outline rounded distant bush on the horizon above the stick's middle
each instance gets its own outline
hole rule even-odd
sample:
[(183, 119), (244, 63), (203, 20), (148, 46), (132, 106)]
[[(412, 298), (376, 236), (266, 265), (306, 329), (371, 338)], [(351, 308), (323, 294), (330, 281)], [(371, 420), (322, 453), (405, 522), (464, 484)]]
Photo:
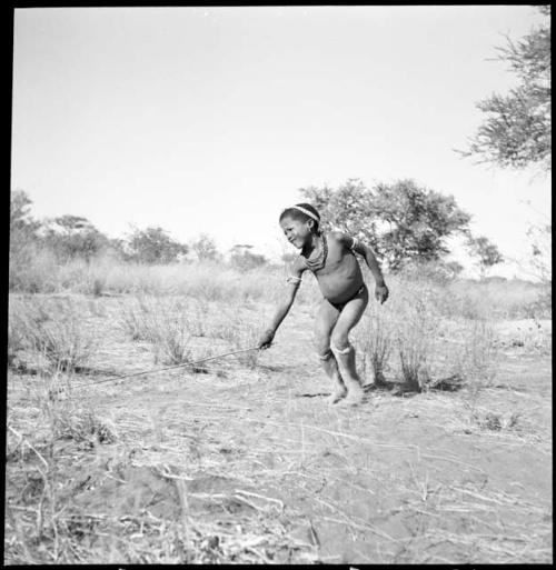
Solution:
[(131, 259), (142, 263), (172, 263), (188, 252), (185, 243), (172, 240), (162, 228), (135, 229), (128, 238)]

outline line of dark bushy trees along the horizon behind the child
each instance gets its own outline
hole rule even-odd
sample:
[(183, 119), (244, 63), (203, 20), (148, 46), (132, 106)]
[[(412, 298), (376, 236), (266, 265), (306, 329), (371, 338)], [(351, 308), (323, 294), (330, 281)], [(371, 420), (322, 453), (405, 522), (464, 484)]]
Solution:
[[(465, 237), (481, 276), (503, 261), (497, 247), (486, 237), (471, 236), (470, 216), (451, 196), (420, 188), (413, 180), (367, 188), (360, 180), (351, 179), (336, 189), (308, 187), (300, 189), (300, 193), (321, 212), (325, 228), (339, 229), (369, 243), (389, 271), (399, 271), (410, 263), (435, 262), (446, 276), (456, 277), (463, 267), (446, 261), (450, 253), (447, 240), (456, 234)], [(149, 227), (132, 228), (125, 239), (110, 239), (82, 217), (66, 214), (36, 220), (30, 213), (31, 204), (24, 191), (12, 192), (10, 257), (19, 262), (26, 262), (26, 256), (32, 256), (32, 248), (37, 247), (48, 248), (60, 262), (90, 261), (101, 253), (146, 264), (182, 260), (224, 262), (224, 254), (206, 233), (181, 243), (162, 228)], [(286, 256), (284, 261), (289, 262), (290, 258)], [(254, 253), (252, 246), (238, 243), (230, 249), (227, 263), (245, 271), (269, 261)]]

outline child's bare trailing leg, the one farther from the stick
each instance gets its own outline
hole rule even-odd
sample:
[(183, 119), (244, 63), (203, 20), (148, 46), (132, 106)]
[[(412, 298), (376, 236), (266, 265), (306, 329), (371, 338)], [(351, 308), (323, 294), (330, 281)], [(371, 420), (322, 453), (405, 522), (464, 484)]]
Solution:
[(364, 396), (361, 380), (356, 370), (355, 349), (349, 343), (349, 331), (359, 322), (368, 301), (369, 293), (365, 287), (363, 291), (346, 303), (331, 336), (331, 348), (348, 390), (347, 403), (359, 403)]

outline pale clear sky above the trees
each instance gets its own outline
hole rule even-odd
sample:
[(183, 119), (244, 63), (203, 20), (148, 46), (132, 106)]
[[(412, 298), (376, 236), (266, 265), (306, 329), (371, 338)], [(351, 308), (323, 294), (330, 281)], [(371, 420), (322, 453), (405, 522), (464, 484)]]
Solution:
[(548, 176), (455, 152), (484, 120), (476, 102), (515, 84), (496, 47), (544, 21), (530, 6), (14, 13), (11, 188), (37, 218), (271, 258), (291, 250), (278, 217), (299, 188), (410, 178), (524, 259), (549, 216)]

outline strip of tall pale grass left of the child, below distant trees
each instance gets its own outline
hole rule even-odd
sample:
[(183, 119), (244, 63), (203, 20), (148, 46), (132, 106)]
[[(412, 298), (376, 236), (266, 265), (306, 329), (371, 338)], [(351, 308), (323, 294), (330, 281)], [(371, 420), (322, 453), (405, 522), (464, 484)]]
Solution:
[[(26, 292), (73, 291), (100, 296), (110, 293), (182, 296), (207, 302), (246, 304), (276, 302), (281, 294), (288, 268), (265, 266), (240, 271), (211, 260), (147, 266), (122, 261), (109, 253), (68, 261), (57, 260), (48, 249), (28, 252), (11, 260), (10, 289)], [(298, 302), (312, 298), (316, 284), (305, 280)]]

